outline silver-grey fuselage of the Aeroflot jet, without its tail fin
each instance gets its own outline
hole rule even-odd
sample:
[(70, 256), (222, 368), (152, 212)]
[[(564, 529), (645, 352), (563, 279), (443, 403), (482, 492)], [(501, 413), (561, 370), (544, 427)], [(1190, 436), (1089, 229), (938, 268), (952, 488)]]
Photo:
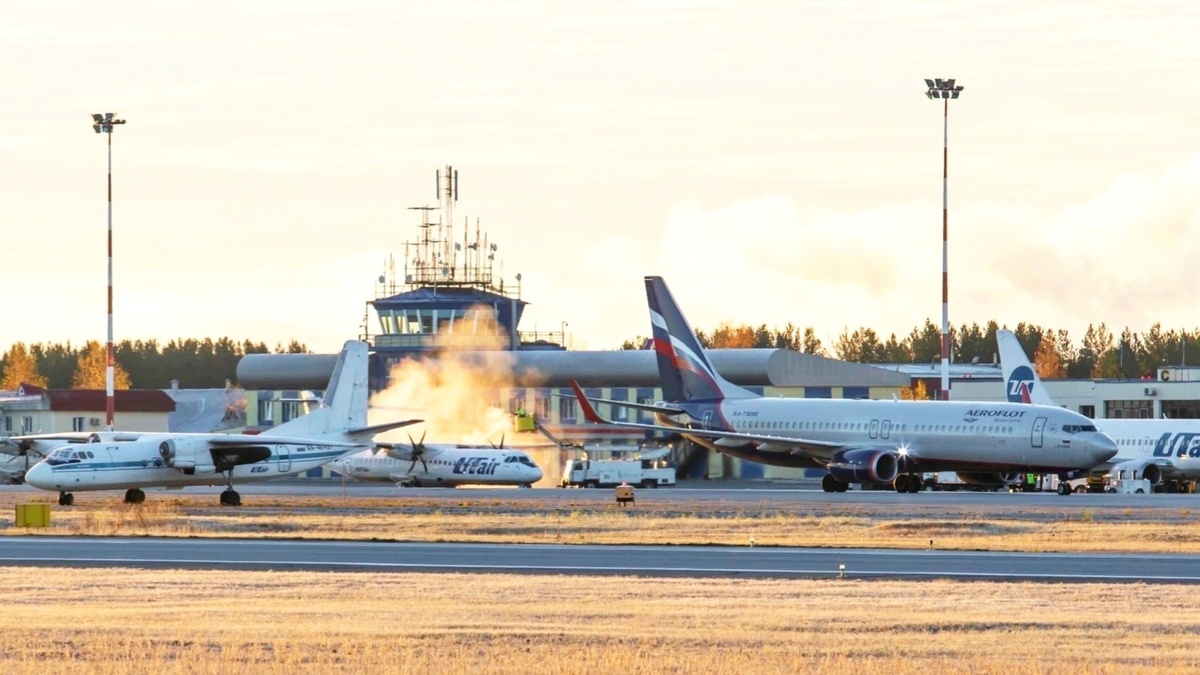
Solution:
[[(1027, 404), (755, 398), (726, 399), (720, 412), (736, 431), (893, 449), (930, 470), (1087, 470), (1116, 452), (1091, 419)], [(713, 422), (712, 428), (721, 428)], [(698, 423), (704, 426), (706, 420)], [(715, 446), (737, 443), (730, 438)], [(776, 448), (766, 443), (760, 449)]]

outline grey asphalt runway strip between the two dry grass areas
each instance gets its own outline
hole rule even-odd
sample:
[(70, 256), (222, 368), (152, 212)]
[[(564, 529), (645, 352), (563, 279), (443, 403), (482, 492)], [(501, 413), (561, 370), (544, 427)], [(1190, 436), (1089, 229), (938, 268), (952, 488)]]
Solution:
[[(1200, 555), (0, 537), (0, 565), (1200, 584)], [(842, 566), (845, 566), (842, 568)]]

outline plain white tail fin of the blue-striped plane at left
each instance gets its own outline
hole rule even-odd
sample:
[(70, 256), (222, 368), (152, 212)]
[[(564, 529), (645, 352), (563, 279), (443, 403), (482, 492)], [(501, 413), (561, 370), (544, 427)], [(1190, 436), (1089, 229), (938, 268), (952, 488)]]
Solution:
[(367, 429), (367, 344), (349, 340), (342, 347), (324, 400), (308, 414), (272, 426), (270, 436), (348, 436)]

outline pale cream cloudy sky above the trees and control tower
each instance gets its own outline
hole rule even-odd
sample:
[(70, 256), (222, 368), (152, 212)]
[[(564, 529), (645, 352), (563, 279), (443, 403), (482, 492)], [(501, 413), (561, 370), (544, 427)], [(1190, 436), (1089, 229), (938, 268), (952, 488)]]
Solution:
[[(0, 23), (0, 264), (16, 341), (361, 334), (389, 253), (456, 219), (523, 330), (608, 350), (662, 275), (696, 328), (941, 317), (1200, 325), (1190, 2), (23, 2)], [(456, 234), (461, 235), (461, 223)], [(378, 331), (373, 315), (371, 330)]]

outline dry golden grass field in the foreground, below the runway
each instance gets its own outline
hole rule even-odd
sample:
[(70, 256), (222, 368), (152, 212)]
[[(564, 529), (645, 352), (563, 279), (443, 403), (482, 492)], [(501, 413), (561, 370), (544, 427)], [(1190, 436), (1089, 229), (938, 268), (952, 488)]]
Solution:
[(0, 568), (0, 673), (1195, 673), (1177, 586)]

